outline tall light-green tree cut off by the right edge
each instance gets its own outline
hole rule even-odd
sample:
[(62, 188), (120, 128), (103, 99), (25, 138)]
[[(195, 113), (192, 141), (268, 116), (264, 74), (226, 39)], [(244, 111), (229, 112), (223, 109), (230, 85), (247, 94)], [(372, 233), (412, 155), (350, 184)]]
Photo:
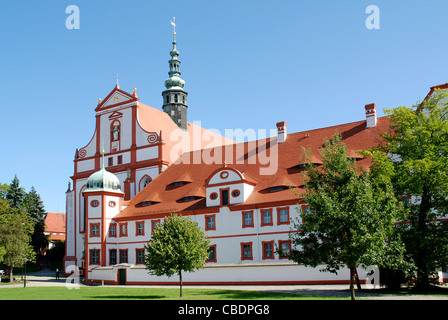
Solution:
[[(448, 225), (448, 94), (436, 90), (412, 108), (386, 109), (391, 133), (377, 152), (377, 166), (392, 165), (397, 196), (411, 200), (406, 223), (397, 232), (406, 245), (407, 261), (416, 268), (416, 289), (426, 290), (447, 261)], [(386, 156), (388, 155), (388, 156)]]

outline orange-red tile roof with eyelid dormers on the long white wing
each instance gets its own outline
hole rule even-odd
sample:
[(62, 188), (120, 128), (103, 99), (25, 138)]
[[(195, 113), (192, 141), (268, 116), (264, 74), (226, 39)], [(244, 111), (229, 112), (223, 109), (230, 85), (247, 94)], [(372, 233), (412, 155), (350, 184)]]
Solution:
[[(342, 135), (343, 142), (347, 145), (347, 156), (359, 159), (358, 165), (368, 168), (369, 159), (362, 159), (357, 152), (377, 146), (382, 142), (381, 134), (390, 131), (389, 120), (385, 117), (378, 118), (375, 127), (366, 128), (366, 121), (358, 121), (332, 127), (326, 127), (306, 132), (290, 133), (285, 142), (277, 144), (277, 138), (269, 141), (258, 140), (255, 143), (246, 142), (233, 144), (230, 147), (215, 147), (185, 153), (179, 161), (171, 165), (162, 174), (155, 178), (145, 189), (132, 198), (117, 220), (155, 218), (172, 212), (185, 214), (194, 211), (205, 210), (218, 211), (219, 207), (206, 207), (205, 183), (210, 175), (224, 165), (238, 170), (244, 179), (255, 183), (254, 190), (249, 198), (241, 204), (230, 205), (230, 210), (239, 208), (254, 208), (270, 206), (272, 203), (297, 203), (298, 196), (289, 188), (276, 192), (270, 192), (269, 187), (292, 186), (303, 192), (301, 177), (298, 174), (300, 164), (306, 163), (303, 149), (311, 149), (311, 159), (314, 163), (322, 163), (318, 149), (324, 145), (325, 139), (330, 139), (336, 132)], [(274, 174), (261, 174), (260, 169), (268, 169), (270, 164), (263, 164), (262, 156), (264, 148), (268, 154), (275, 152), (278, 147), (278, 167)], [(227, 148), (227, 152), (226, 152)], [(244, 152), (239, 150), (244, 148)], [(232, 151), (231, 156), (229, 152)], [(210, 163), (204, 156), (211, 155), (218, 163)], [(200, 159), (200, 163), (194, 163)], [(226, 160), (226, 162), (224, 162)], [(230, 160), (230, 161), (229, 161)], [(173, 182), (186, 181), (181, 186), (173, 186)], [(171, 185), (171, 186), (170, 186)], [(170, 187), (168, 187), (170, 186)], [(184, 197), (197, 196), (196, 200), (182, 201)], [(153, 201), (155, 204), (139, 207), (144, 201)]]

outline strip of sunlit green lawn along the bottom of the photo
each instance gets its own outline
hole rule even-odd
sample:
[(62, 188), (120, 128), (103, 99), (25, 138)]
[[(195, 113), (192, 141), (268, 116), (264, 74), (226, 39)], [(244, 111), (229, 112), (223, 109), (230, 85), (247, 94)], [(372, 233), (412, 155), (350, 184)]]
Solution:
[(66, 287), (1, 288), (0, 300), (291, 300), (334, 299), (290, 293), (178, 288)]

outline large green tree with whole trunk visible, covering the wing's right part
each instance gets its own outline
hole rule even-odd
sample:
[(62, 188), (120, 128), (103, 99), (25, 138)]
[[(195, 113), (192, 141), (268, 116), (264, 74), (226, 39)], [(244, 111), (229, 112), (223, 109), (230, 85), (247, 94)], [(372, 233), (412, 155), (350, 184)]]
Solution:
[(385, 172), (359, 170), (341, 139), (336, 134), (325, 141), (319, 150), (321, 167), (308, 160), (302, 199), (309, 210), (300, 213), (301, 221), (295, 224), (299, 232), (290, 234), (294, 244), (290, 259), (311, 267), (325, 264), (322, 271), (332, 273), (347, 267), (355, 299), (356, 267), (401, 261), (400, 242), (388, 243), (400, 211)]

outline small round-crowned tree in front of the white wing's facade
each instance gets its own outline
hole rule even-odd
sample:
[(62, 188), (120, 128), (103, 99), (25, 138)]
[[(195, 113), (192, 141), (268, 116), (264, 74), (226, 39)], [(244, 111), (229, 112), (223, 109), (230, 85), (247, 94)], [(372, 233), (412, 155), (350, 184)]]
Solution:
[(202, 269), (208, 258), (210, 241), (205, 232), (190, 218), (172, 214), (154, 231), (145, 245), (145, 265), (150, 274), (179, 275), (182, 297), (182, 271)]

